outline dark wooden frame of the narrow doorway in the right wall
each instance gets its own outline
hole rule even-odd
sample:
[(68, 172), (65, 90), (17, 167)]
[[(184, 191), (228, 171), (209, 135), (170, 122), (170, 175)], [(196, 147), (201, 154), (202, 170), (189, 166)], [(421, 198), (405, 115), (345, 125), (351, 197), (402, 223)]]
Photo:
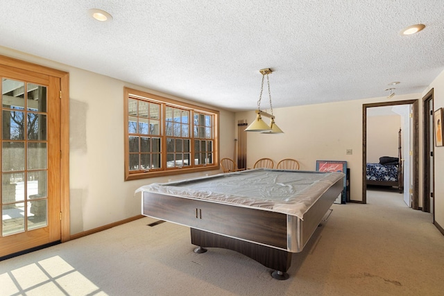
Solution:
[[(432, 109), (429, 107), (429, 102), (432, 101)], [(430, 201), (429, 196), (431, 192), (435, 192), (434, 188), (432, 188), (432, 191), (430, 191), (430, 155), (429, 151), (432, 150), (432, 153), (434, 155), (434, 145), (432, 144), (432, 147), (430, 147), (430, 125), (427, 121), (429, 119), (430, 113), (434, 112), (434, 89), (430, 89), (429, 92), (422, 98), (422, 116), (424, 117), (424, 126), (422, 133), (424, 134), (424, 137), (422, 137), (422, 147), (424, 147), (424, 153), (422, 158), (422, 211), (430, 212)], [(432, 127), (433, 130), (433, 127)], [(435, 159), (433, 160), (435, 162)], [(433, 170), (435, 171), (435, 166), (433, 166)], [(435, 184), (435, 182), (434, 182)], [(433, 203), (435, 203), (435, 199), (433, 199)], [(433, 204), (433, 209), (435, 209), (435, 205)], [(435, 211), (433, 211), (433, 222), (435, 223)]]

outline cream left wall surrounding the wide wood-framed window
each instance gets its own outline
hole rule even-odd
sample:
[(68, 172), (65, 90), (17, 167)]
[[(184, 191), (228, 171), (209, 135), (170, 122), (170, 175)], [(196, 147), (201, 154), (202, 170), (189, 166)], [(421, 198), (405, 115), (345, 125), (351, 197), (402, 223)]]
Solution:
[[(69, 72), (71, 234), (140, 214), (140, 200), (134, 197), (139, 186), (221, 173), (215, 170), (124, 182), (123, 87), (160, 93), (3, 47), (0, 47), (0, 54)], [(219, 152), (221, 157), (232, 157), (234, 131), (225, 127), (234, 125), (234, 113), (219, 111), (222, 127)]]

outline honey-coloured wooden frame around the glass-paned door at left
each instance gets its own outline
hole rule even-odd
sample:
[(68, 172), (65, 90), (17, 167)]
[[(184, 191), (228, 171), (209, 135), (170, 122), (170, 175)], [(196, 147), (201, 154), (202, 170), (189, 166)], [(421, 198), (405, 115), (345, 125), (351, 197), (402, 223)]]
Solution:
[(60, 241), (69, 241), (69, 73), (5, 55), (0, 64), (60, 78)]

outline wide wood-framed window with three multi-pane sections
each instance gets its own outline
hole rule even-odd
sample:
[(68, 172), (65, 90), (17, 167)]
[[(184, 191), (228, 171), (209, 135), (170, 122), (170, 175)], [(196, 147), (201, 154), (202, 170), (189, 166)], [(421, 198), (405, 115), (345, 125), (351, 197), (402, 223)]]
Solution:
[(125, 88), (125, 180), (219, 168), (219, 112)]

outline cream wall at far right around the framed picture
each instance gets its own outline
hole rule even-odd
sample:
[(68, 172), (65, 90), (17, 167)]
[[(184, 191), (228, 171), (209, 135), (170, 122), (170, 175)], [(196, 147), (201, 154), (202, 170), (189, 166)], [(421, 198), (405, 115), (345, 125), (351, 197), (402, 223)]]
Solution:
[[(434, 110), (444, 107), (444, 71), (422, 93), (423, 96), (434, 89)], [(444, 147), (434, 147), (435, 168), (435, 221), (444, 228)]]

